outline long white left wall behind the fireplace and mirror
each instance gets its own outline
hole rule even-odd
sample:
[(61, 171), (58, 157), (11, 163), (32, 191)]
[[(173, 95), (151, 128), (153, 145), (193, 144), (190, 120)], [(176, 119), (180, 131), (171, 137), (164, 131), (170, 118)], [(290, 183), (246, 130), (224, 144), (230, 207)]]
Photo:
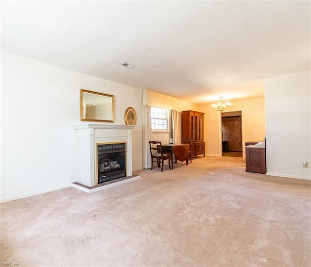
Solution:
[(115, 96), (114, 124), (136, 109), (133, 170), (142, 168), (140, 89), (1, 51), (1, 201), (75, 182), (81, 88)]

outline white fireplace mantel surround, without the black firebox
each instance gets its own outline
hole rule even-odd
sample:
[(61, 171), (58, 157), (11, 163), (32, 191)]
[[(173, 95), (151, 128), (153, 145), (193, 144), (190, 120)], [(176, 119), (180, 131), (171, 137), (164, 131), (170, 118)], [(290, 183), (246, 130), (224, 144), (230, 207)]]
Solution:
[(126, 176), (132, 176), (133, 125), (85, 123), (72, 126), (76, 130), (76, 182), (97, 184), (97, 144), (126, 143)]

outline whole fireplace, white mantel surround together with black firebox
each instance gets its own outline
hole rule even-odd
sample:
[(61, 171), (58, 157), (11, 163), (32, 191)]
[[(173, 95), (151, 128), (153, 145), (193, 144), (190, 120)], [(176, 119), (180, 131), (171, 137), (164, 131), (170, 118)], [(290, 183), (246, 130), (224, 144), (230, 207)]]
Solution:
[[(95, 123), (73, 126), (76, 131), (75, 181), (95, 186), (118, 179), (118, 176), (121, 179), (132, 176), (134, 127), (134, 125)], [(118, 163), (115, 163), (116, 161)], [(104, 168), (108, 167), (108, 162), (114, 167)], [(120, 168), (116, 166), (117, 164)]]

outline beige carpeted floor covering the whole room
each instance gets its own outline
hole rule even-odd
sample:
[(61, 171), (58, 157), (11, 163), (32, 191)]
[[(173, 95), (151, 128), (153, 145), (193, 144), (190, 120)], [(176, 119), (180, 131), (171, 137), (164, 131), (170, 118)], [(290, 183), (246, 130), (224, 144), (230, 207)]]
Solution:
[(0, 261), (311, 266), (311, 181), (247, 173), (236, 157), (135, 174), (142, 178), (91, 194), (69, 187), (2, 203)]

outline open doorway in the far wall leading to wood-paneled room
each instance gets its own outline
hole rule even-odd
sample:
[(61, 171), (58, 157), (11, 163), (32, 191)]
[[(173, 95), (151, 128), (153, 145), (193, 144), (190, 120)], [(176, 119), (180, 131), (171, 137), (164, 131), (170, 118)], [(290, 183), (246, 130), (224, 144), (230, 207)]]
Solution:
[(222, 113), (223, 156), (242, 157), (242, 112)]

